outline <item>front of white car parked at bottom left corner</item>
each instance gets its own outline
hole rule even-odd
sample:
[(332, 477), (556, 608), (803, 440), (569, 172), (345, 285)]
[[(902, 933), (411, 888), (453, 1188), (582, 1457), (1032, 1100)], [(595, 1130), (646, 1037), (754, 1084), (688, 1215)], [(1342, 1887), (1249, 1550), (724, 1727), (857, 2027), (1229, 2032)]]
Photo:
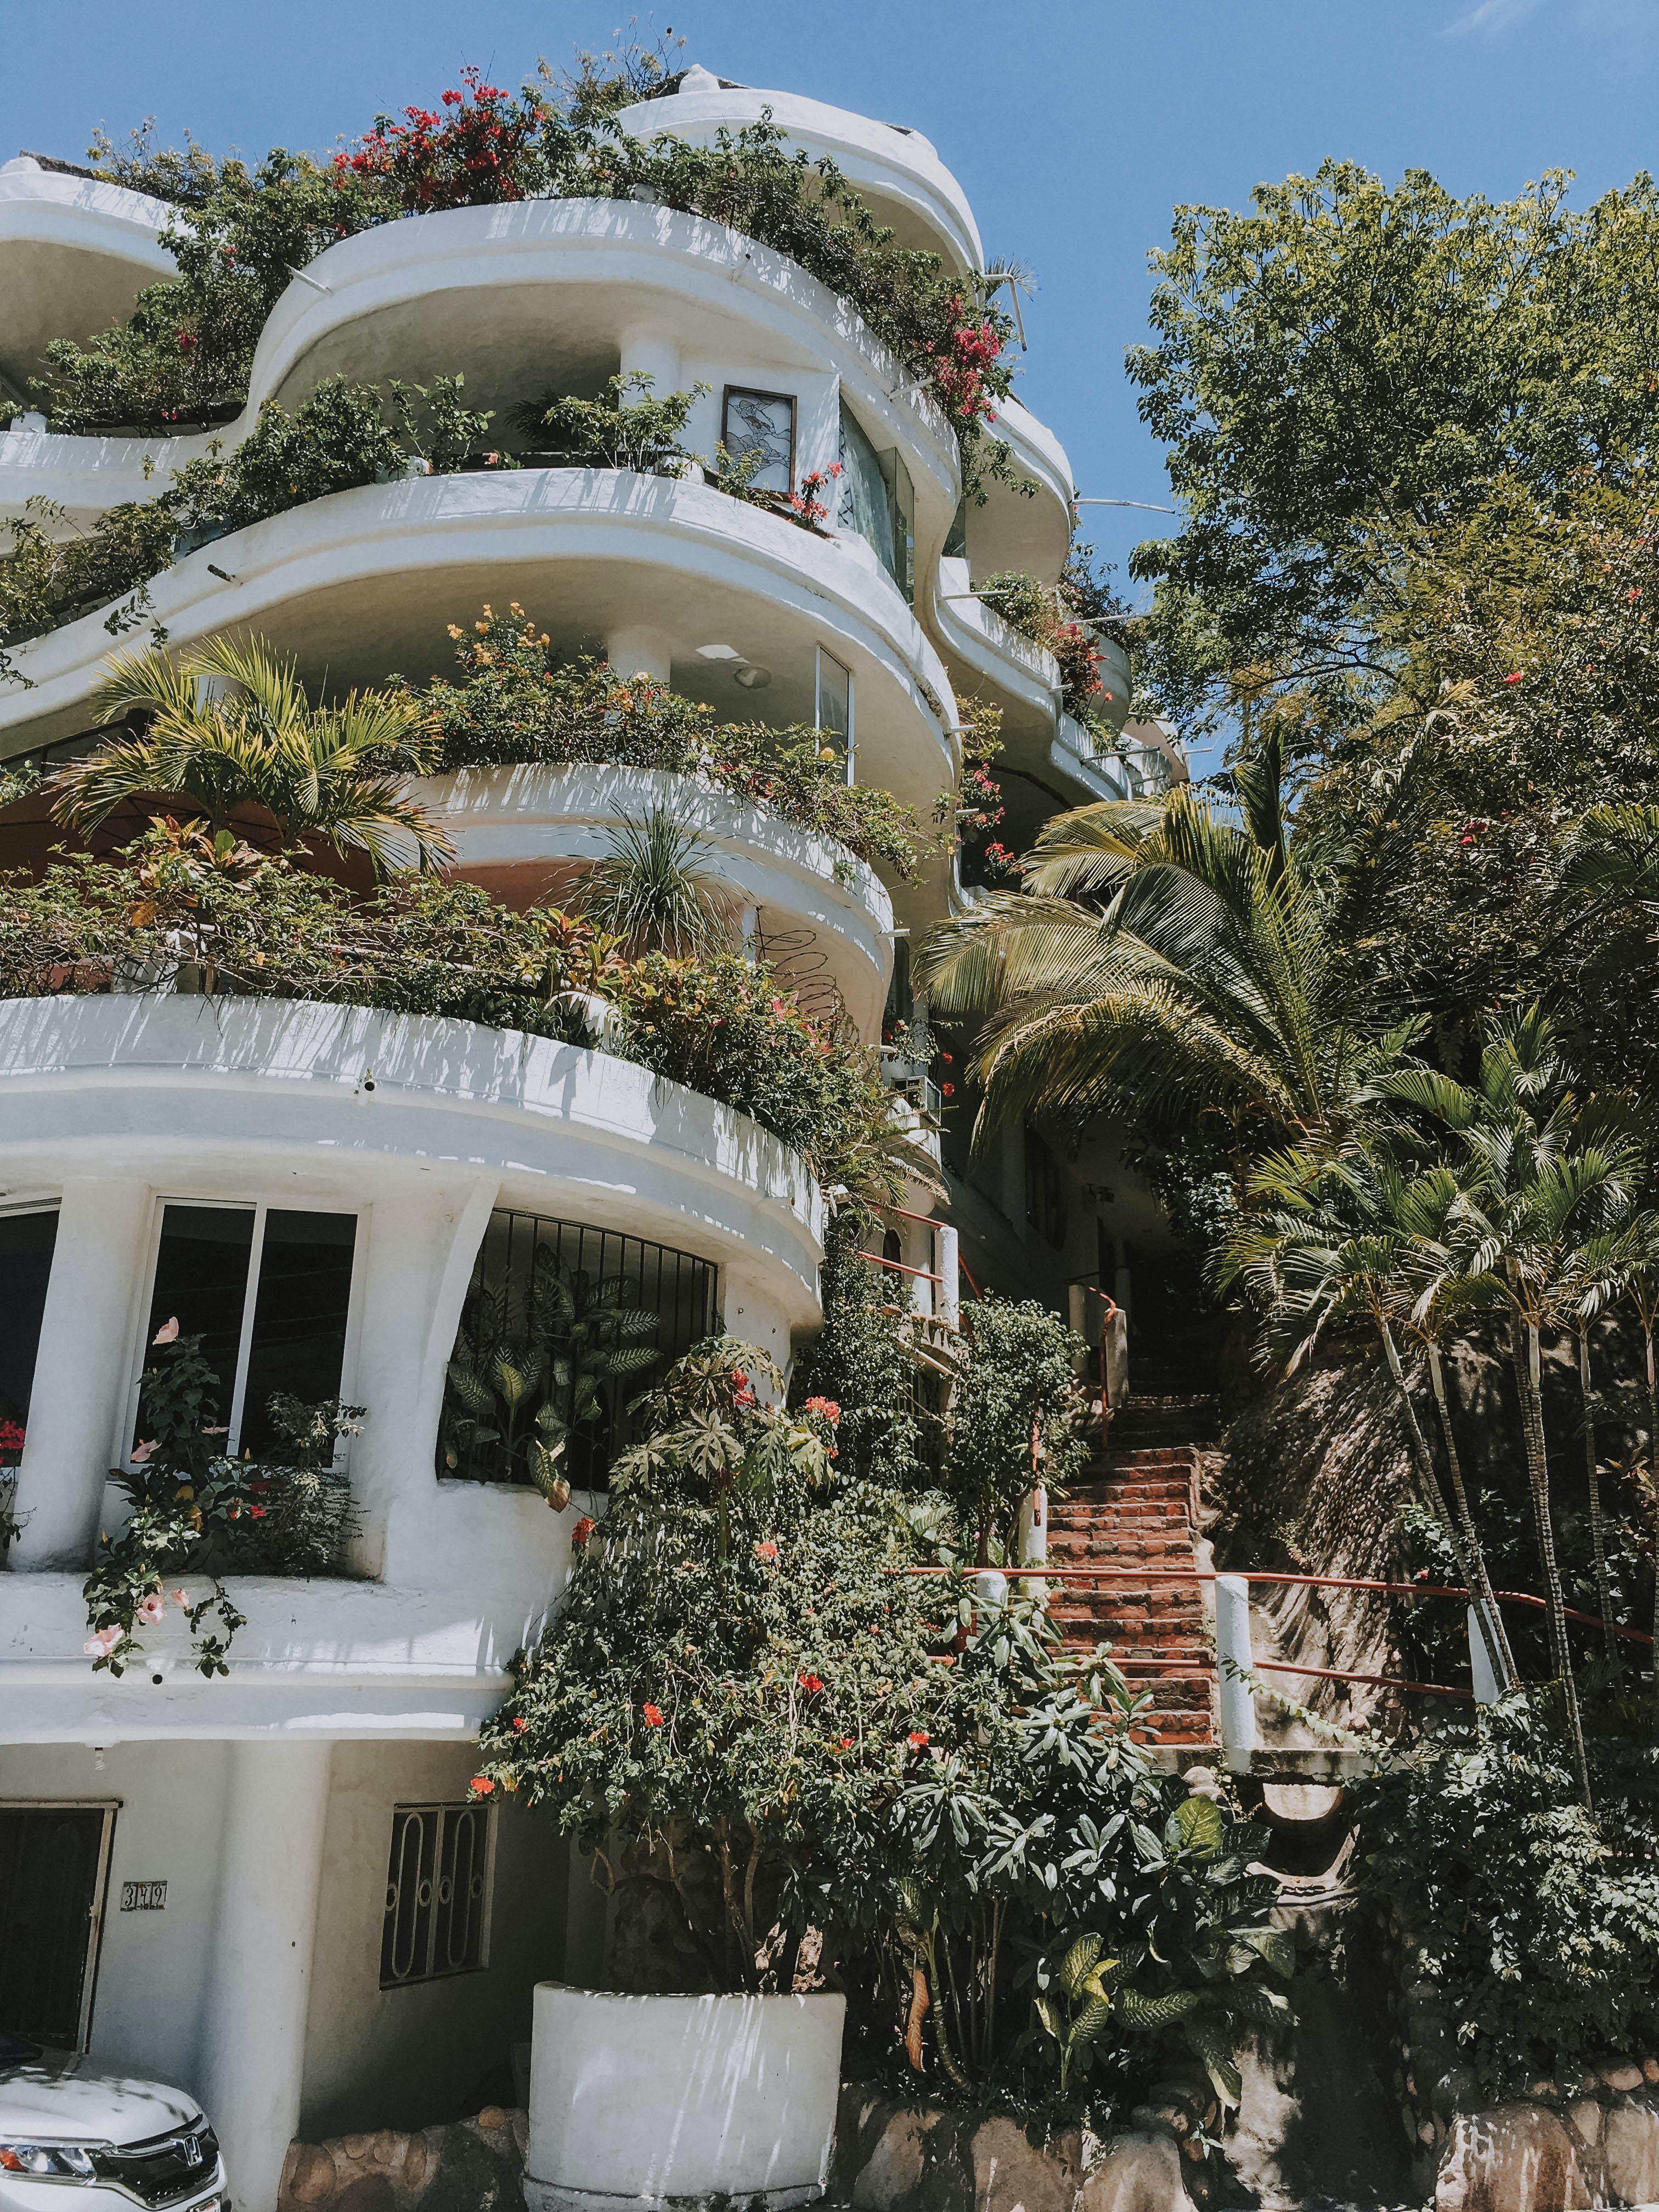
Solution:
[(195, 2097), (0, 2028), (0, 2212), (223, 2212), (219, 2137)]

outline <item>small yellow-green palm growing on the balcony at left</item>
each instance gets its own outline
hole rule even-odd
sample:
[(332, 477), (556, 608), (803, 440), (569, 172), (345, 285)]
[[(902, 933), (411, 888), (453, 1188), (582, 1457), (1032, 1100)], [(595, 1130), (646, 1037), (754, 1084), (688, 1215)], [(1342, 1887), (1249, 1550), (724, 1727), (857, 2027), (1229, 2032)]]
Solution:
[(95, 830), (126, 799), (179, 792), (215, 830), (254, 801), (285, 849), (325, 838), (336, 852), (358, 847), (376, 872), (431, 869), (453, 856), (405, 790), (405, 776), (436, 765), (414, 710), (389, 692), (312, 706), (294, 664), (261, 639), (215, 637), (177, 659), (122, 655), (93, 712), (102, 726), (142, 717), (142, 728), (58, 772), (53, 812), (73, 830)]

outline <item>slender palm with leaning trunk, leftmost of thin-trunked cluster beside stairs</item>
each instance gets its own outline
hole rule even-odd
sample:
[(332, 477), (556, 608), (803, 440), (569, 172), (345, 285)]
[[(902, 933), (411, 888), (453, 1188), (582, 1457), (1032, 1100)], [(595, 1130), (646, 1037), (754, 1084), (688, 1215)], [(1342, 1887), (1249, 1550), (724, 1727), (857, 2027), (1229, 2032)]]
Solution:
[[(1252, 1208), (1234, 1232), (1223, 1281), (1241, 1283), (1263, 1307), (1261, 1356), (1292, 1374), (1327, 1329), (1371, 1325), (1405, 1416), (1407, 1447), (1422, 1504), (1451, 1544), (1495, 1681), (1509, 1692), (1520, 1674), (1486, 1575), (1486, 1555), (1469, 1511), (1451, 1433), (1440, 1347), (1453, 1303), (1418, 1296), (1429, 1223), (1440, 1199), (1407, 1179), (1387, 1155), (1349, 1146), (1340, 1155), (1292, 1150), (1267, 1157), (1250, 1179)], [(1429, 1267), (1433, 1261), (1429, 1259)], [(1429, 1354), (1440, 1409), (1455, 1517), (1447, 1513), (1433, 1453), (1418, 1420), (1396, 1332)]]

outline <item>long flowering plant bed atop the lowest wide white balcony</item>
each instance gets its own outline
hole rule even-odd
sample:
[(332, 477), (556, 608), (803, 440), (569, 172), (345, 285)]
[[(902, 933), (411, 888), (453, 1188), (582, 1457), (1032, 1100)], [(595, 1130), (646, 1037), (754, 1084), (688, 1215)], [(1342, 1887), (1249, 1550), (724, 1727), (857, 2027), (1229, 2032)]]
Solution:
[(396, 878), (372, 898), (228, 832), (157, 823), (128, 865), (0, 878), (0, 998), (204, 989), (453, 1015), (591, 1044), (734, 1106), (821, 1181), (889, 1188), (909, 1148), (872, 1053), (814, 1024), (737, 953), (624, 958), (546, 907), (513, 914), (465, 883)]

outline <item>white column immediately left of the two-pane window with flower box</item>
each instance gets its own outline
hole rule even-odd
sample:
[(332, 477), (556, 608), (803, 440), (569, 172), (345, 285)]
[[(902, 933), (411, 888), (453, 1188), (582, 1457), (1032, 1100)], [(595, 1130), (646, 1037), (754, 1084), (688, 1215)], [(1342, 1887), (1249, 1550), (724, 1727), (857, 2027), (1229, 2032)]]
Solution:
[(11, 1566), (84, 1568), (131, 1383), (133, 1307), (150, 1230), (148, 1183), (73, 1177), (58, 1210)]

